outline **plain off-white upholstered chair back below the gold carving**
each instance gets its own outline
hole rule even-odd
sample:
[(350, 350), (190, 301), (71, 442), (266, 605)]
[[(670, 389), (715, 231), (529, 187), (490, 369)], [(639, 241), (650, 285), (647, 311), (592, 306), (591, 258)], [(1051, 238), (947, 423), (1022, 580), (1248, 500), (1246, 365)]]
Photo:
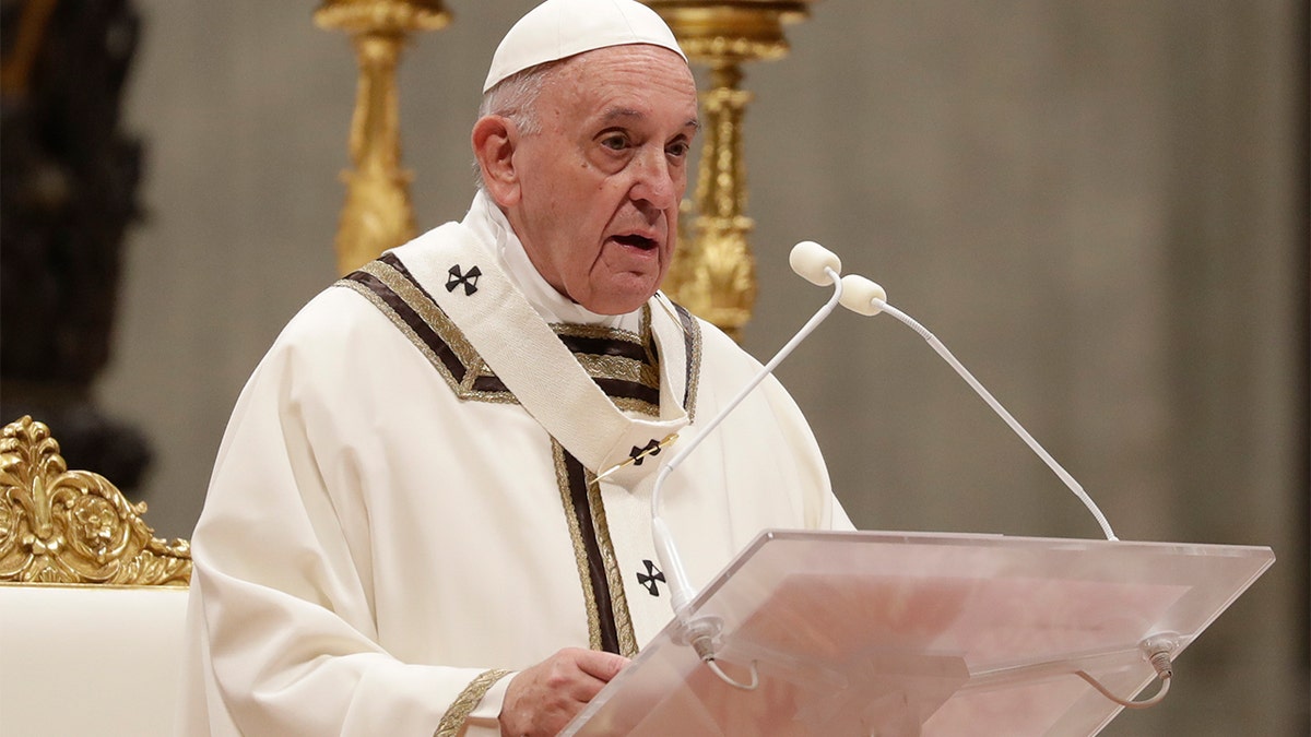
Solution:
[(0, 584), (0, 734), (173, 732), (186, 589)]

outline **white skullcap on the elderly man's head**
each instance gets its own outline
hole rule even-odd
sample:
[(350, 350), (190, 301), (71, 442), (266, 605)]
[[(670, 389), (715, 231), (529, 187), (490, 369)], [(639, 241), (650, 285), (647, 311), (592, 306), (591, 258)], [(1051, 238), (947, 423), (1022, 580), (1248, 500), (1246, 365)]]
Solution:
[(687, 60), (674, 31), (636, 0), (547, 0), (501, 39), (482, 92), (530, 67), (625, 43), (663, 46)]

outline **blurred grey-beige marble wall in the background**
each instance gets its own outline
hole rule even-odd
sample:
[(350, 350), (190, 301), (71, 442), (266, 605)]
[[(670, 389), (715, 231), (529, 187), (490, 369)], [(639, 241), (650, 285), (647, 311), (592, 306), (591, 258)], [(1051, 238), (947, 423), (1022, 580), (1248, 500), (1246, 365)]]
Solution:
[[(463, 215), (490, 52), (531, 3), (451, 0), (401, 71), (418, 220)], [(355, 67), (315, 4), (139, 3), (130, 236), (101, 403), (156, 451), (187, 535), (227, 414), (333, 277)], [(1124, 539), (1270, 546), (1276, 567), (1108, 734), (1307, 728), (1306, 7), (1294, 0), (825, 0), (747, 70), (766, 358), (825, 295), (825, 243), (933, 330)], [(780, 375), (857, 525), (1099, 536), (914, 333), (832, 317)], [(58, 431), (58, 429), (56, 429)]]

